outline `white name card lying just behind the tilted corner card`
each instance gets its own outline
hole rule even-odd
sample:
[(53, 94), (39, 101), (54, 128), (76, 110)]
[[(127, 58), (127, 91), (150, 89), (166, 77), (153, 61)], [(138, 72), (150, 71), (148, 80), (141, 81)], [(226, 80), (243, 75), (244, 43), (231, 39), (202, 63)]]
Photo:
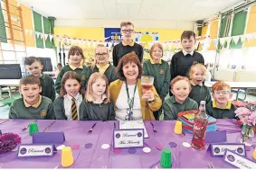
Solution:
[(211, 144), (213, 157), (223, 157), (226, 149), (232, 150), (233, 152), (243, 157), (246, 157), (246, 149), (244, 144), (235, 144), (235, 143)]

